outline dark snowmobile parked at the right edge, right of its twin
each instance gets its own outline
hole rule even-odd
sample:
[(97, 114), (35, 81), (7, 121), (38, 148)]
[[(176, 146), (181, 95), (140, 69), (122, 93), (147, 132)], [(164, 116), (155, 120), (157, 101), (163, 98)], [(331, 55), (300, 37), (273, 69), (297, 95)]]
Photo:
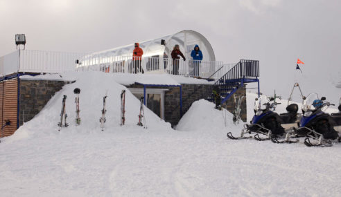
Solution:
[[(317, 93), (311, 93), (302, 104), (304, 112), (298, 129), (294, 132), (297, 137), (306, 137), (304, 144), (308, 147), (331, 147), (333, 142), (339, 142), (338, 132), (334, 126), (341, 122), (341, 113), (325, 113), (329, 106), (335, 105), (326, 102), (326, 97), (319, 99)], [(339, 106), (341, 109), (341, 106)], [(317, 141), (311, 142), (311, 139)]]

